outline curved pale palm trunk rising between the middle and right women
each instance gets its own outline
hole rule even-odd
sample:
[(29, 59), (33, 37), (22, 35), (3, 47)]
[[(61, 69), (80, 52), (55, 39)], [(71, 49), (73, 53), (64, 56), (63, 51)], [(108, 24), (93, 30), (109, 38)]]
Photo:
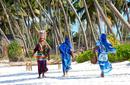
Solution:
[(76, 12), (74, 6), (71, 4), (70, 0), (67, 0), (67, 2), (68, 2), (68, 4), (71, 6), (71, 8), (72, 8), (72, 10), (74, 11), (74, 13), (76, 14), (76, 17), (77, 17), (77, 19), (78, 19), (78, 21), (79, 21), (79, 23), (80, 23), (80, 26), (81, 26), (81, 29), (82, 29), (82, 32), (83, 32), (84, 42), (85, 42), (85, 49), (88, 49), (88, 44), (87, 44), (88, 41), (87, 41), (87, 37), (86, 37), (85, 31), (84, 31), (83, 24), (82, 24), (82, 22), (81, 22), (81, 20), (80, 20), (80, 17), (78, 16), (78, 14), (77, 14), (77, 12)]

